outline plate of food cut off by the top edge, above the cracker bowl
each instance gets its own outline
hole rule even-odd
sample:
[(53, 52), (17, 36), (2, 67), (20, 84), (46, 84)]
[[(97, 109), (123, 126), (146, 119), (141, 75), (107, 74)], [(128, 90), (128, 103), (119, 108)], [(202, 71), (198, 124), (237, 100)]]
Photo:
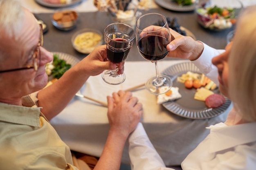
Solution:
[(82, 0), (35, 0), (38, 4), (51, 8), (69, 7), (81, 1)]

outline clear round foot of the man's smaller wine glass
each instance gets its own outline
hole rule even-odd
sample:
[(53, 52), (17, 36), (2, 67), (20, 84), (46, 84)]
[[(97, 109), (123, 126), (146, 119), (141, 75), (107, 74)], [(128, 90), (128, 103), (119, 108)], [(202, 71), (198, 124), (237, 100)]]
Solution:
[(126, 76), (125, 74), (118, 75), (116, 72), (113, 72), (112, 70), (105, 70), (101, 74), (102, 79), (111, 85), (118, 85), (124, 82)]

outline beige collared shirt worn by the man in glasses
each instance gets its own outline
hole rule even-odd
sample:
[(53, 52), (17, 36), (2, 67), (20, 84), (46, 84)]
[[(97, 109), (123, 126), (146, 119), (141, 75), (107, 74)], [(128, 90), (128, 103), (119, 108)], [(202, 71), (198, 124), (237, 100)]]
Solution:
[(23, 106), (0, 103), (1, 170), (78, 170), (70, 148), (29, 96)]

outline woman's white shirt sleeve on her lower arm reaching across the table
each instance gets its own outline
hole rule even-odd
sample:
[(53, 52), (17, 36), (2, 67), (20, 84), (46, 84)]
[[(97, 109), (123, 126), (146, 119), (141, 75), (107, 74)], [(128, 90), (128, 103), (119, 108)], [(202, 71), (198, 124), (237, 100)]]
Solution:
[(173, 170), (166, 168), (141, 123), (130, 134), (128, 142), (132, 170)]

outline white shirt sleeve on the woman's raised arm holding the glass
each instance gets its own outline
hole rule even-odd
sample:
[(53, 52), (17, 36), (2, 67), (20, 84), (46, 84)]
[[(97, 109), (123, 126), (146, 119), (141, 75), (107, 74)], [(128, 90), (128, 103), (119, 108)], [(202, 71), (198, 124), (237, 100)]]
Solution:
[[(203, 43), (203, 42), (202, 42)], [(204, 44), (204, 43), (203, 43)], [(202, 55), (194, 61), (191, 61), (195, 66), (199, 68), (199, 70), (204, 73), (206, 77), (211, 79), (214, 83), (217, 85), (219, 84), (218, 81), (218, 70), (217, 67), (214, 66), (211, 62), (211, 59), (213, 57), (216, 57), (220, 53), (223, 53), (225, 50), (216, 50), (212, 47), (208, 46), (207, 44), (204, 44), (204, 50), (202, 52)]]

